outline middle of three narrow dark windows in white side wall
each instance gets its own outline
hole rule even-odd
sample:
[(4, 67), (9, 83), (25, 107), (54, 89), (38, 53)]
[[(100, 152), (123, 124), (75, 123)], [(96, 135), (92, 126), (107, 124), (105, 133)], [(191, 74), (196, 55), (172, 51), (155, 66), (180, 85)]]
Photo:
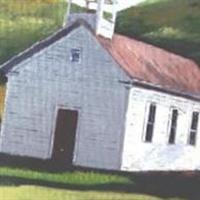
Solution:
[(170, 127), (170, 133), (169, 133), (169, 144), (175, 143), (177, 120), (178, 120), (178, 110), (173, 109), (172, 117), (171, 117), (171, 127)]

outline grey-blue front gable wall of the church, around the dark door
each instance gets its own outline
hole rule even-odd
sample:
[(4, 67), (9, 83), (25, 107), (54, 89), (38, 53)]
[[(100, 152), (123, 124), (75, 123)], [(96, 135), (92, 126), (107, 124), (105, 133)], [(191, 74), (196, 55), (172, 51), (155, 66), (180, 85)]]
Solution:
[[(81, 62), (70, 61), (71, 48)], [(1, 152), (51, 157), (57, 109), (79, 111), (74, 164), (120, 169), (128, 76), (81, 26), (8, 74)]]

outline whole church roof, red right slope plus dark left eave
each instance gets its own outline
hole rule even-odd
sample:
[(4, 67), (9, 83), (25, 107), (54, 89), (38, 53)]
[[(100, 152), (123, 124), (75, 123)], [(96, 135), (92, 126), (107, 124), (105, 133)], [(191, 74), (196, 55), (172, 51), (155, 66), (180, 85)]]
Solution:
[[(94, 34), (87, 22), (78, 19), (71, 26), (62, 28), (47, 39), (8, 60), (0, 66), (0, 70), (5, 74), (8, 73), (15, 65), (81, 25)], [(158, 86), (167, 91), (200, 97), (200, 68), (194, 61), (118, 34), (114, 34), (112, 40), (99, 36), (96, 38), (133, 80), (146, 85)]]

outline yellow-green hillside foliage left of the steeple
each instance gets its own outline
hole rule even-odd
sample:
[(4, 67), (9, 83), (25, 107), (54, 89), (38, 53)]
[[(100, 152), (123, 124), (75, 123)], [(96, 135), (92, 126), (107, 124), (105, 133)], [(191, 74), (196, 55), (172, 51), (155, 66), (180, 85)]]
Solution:
[(0, 63), (61, 27), (66, 6), (64, 0), (1, 0)]

